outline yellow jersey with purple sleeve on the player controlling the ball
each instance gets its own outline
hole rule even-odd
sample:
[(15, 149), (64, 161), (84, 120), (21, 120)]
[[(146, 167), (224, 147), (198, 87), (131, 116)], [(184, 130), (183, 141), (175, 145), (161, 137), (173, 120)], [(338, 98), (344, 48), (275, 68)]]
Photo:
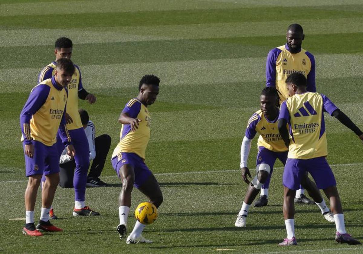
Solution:
[(120, 142), (117, 144), (112, 158), (121, 152), (136, 153), (145, 159), (145, 150), (150, 139), (151, 117), (150, 113), (138, 99), (131, 99), (126, 103), (122, 113), (127, 113), (131, 118), (138, 118), (139, 128), (131, 130), (130, 124), (122, 124)]

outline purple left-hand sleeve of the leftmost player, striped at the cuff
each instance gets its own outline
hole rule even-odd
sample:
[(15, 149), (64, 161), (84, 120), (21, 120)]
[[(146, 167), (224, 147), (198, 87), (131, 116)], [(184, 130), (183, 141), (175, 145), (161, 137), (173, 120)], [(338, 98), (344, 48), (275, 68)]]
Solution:
[(20, 129), (23, 134), (24, 143), (31, 144), (30, 138), (30, 119), (41, 108), (48, 98), (50, 87), (47, 85), (38, 85), (30, 92), (28, 100), (25, 102), (23, 110), (20, 113)]

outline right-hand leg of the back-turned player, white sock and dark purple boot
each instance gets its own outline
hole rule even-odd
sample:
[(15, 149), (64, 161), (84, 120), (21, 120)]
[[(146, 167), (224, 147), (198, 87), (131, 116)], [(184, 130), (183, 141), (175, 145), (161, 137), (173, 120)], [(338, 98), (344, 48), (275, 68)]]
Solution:
[(340, 202), (337, 186), (331, 186), (323, 189), (324, 193), (330, 200), (330, 208), (334, 213), (335, 227), (337, 233), (335, 234), (335, 241), (340, 243), (348, 243), (350, 245), (361, 244), (358, 240), (351, 237), (345, 230), (344, 214), (342, 209), (342, 202)]

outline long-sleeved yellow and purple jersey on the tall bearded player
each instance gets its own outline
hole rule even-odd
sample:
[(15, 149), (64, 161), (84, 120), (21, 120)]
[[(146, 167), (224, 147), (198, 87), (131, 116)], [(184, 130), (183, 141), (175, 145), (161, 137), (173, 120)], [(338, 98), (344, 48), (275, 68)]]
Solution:
[(306, 77), (306, 90), (315, 92), (315, 59), (314, 56), (301, 49), (298, 53), (290, 53), (286, 45), (272, 49), (266, 61), (266, 86), (274, 86), (280, 95), (280, 103), (285, 101), (287, 94), (286, 78), (299, 72)]

